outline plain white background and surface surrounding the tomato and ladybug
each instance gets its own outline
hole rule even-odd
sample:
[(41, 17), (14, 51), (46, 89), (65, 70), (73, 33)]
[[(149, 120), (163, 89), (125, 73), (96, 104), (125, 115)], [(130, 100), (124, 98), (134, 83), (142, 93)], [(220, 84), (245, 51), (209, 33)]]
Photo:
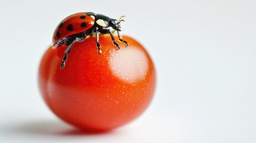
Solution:
[[(0, 1), (0, 142), (256, 142), (255, 0)], [(126, 15), (158, 71), (147, 111), (108, 133), (63, 123), (38, 90), (55, 26), (81, 11)]]

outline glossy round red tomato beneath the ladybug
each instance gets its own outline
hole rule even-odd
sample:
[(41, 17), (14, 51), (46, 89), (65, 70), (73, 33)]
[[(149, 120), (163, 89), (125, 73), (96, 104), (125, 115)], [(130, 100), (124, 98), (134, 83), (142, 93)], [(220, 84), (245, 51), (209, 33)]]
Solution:
[(152, 100), (156, 73), (147, 51), (128, 36), (116, 50), (110, 36), (76, 42), (64, 69), (66, 47), (51, 46), (39, 66), (39, 89), (48, 107), (71, 125), (86, 130), (110, 130), (138, 117)]

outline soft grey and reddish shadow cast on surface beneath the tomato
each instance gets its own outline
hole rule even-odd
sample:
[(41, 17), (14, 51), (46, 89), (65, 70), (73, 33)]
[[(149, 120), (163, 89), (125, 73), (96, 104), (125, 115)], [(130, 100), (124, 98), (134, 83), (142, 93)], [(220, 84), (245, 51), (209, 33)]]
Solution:
[(16, 126), (14, 132), (27, 135), (42, 135), (42, 136), (94, 136), (94, 135), (116, 135), (120, 133), (117, 130), (107, 131), (91, 131), (81, 130), (63, 122), (57, 121), (37, 121)]

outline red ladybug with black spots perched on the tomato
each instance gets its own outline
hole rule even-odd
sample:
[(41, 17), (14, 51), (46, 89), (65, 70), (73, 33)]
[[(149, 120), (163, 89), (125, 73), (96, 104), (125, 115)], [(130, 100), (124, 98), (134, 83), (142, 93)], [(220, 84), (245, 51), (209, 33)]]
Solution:
[(76, 13), (64, 18), (64, 20), (62, 20), (56, 27), (53, 35), (53, 48), (61, 45), (67, 45), (60, 69), (63, 69), (65, 66), (67, 54), (70, 53), (73, 44), (75, 42), (84, 41), (86, 36), (91, 35), (92, 33), (95, 33), (95, 42), (98, 48), (98, 54), (101, 54), (101, 46), (100, 43), (98, 43), (98, 32), (103, 34), (109, 33), (113, 44), (117, 49), (120, 49), (118, 43), (115, 42), (116, 39), (111, 30), (107, 29), (108, 27), (112, 27), (114, 30), (116, 30), (118, 32), (118, 41), (121, 41), (125, 44), (125, 46), (128, 46), (128, 43), (121, 39), (122, 36), (119, 33), (121, 31), (120, 22), (124, 21), (121, 19), (122, 17), (120, 17), (119, 20), (116, 20), (102, 14), (85, 12)]

